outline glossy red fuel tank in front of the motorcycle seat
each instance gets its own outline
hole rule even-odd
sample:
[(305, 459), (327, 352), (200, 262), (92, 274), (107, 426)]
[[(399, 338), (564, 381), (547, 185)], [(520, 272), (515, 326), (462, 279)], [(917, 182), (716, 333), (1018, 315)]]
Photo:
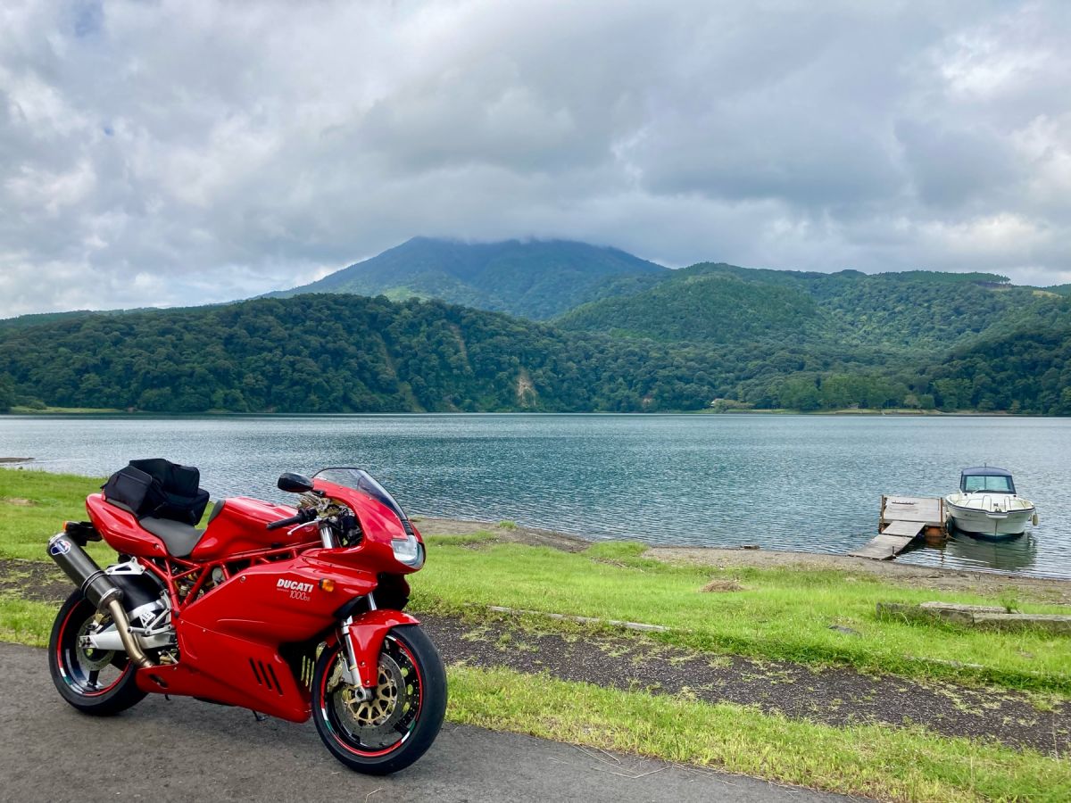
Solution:
[(208, 524), (208, 529), (190, 554), (192, 560), (218, 560), (229, 555), (255, 549), (284, 547), (319, 541), (315, 524), (290, 533), (292, 528), (269, 530), (267, 526), (289, 518), (297, 510), (285, 504), (270, 504), (248, 497), (225, 499), (223, 507)]

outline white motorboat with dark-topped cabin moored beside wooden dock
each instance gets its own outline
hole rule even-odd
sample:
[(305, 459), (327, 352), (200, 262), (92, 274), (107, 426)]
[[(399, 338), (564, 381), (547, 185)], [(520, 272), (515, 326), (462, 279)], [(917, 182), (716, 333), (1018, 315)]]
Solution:
[(1015, 494), (1011, 472), (982, 466), (960, 473), (960, 490), (945, 497), (945, 507), (957, 530), (989, 539), (1022, 535), (1038, 524), (1034, 502)]

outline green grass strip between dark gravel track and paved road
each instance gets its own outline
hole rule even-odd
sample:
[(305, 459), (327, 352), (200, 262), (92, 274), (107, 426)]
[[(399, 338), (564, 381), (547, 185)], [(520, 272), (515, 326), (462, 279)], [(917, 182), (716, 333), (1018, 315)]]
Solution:
[(448, 717), (884, 800), (1071, 800), (1071, 762), (921, 728), (826, 725), (729, 703), (450, 667)]

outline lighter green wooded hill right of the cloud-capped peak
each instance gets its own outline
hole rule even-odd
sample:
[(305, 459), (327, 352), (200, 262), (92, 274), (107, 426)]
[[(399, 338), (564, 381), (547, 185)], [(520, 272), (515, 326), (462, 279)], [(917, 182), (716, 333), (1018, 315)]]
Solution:
[(1071, 322), (1071, 301), (1004, 276), (909, 271), (803, 273), (700, 263), (628, 296), (567, 312), (577, 332), (730, 344), (781, 340), (888, 353), (949, 349)]

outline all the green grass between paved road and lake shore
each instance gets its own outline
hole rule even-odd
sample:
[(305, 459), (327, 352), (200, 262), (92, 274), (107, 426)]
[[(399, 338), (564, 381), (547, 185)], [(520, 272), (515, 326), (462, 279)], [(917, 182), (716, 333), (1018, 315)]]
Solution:
[[(84, 516), (85, 496), (101, 482), (0, 470), (0, 558), (46, 562), (47, 537), (64, 518)], [(100, 562), (108, 560), (105, 545), (92, 547)], [(7, 569), (20, 571), (17, 563)], [(1041, 703), (1044, 696), (1071, 694), (1071, 639), (884, 621), (874, 610), (877, 601), (926, 600), (1067, 608), (942, 593), (846, 571), (712, 570), (652, 560), (638, 544), (564, 552), (472, 533), (428, 539), (427, 565), (412, 585), (413, 607), (428, 612), (480, 618), (487, 605), (502, 605), (638, 621), (669, 627), (650, 638), (697, 650), (1029, 688)], [(0, 639), (43, 646), (55, 609), (17, 593), (0, 596)], [(829, 630), (833, 624), (854, 633)], [(584, 634), (554, 620), (540, 626)], [(454, 722), (881, 800), (1071, 799), (1066, 757), (919, 727), (833, 727), (688, 694), (622, 692), (463, 665), (449, 672)]]

